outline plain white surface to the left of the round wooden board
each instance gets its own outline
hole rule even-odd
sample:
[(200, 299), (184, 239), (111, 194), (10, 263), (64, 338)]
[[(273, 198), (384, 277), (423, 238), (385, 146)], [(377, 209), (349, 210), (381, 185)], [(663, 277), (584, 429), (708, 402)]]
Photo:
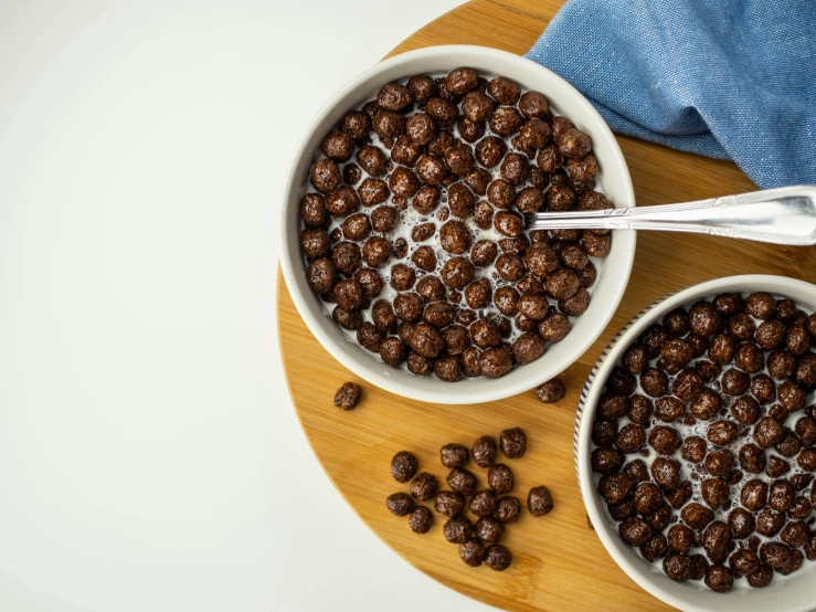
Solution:
[(0, 610), (486, 609), (336, 493), (274, 319), (288, 151), (458, 3), (0, 3)]

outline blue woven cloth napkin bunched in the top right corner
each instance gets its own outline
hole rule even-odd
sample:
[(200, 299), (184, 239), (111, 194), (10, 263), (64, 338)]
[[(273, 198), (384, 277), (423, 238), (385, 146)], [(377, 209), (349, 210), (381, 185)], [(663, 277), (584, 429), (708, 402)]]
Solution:
[(571, 0), (527, 57), (615, 131), (816, 183), (815, 0)]

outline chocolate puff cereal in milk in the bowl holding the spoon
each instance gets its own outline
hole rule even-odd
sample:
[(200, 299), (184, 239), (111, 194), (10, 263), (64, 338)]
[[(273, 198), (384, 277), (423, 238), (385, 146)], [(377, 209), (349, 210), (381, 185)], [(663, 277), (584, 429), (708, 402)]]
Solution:
[[(499, 378), (564, 340), (611, 247), (608, 232), (528, 232), (522, 215), (611, 208), (601, 170), (591, 137), (511, 80), (463, 66), (389, 83), (315, 151), (299, 208), (307, 281), (386, 365), (446, 382)], [(751, 308), (771, 312), (765, 299)], [(692, 318), (704, 331), (720, 316)], [(763, 328), (756, 346), (778, 331)], [(539, 397), (558, 401), (563, 386)]]

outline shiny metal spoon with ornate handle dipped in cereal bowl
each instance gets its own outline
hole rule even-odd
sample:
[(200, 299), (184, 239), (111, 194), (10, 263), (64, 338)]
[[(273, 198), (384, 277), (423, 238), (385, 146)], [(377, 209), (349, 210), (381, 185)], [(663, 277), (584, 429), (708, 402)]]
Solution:
[(632, 209), (536, 212), (528, 230), (663, 230), (775, 244), (816, 244), (816, 184)]

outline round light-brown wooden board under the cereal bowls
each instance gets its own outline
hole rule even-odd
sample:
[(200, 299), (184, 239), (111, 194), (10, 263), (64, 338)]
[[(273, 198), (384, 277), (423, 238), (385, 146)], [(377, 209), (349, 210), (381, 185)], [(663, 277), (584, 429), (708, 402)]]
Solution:
[[(474, 0), (439, 18), (400, 44), (393, 53), (436, 44), (481, 44), (524, 53), (561, 6), (559, 0)], [(680, 154), (618, 138), (632, 171), (638, 205), (739, 193), (755, 189), (732, 163)], [(317, 342), (300, 319), (278, 275), (280, 351), (295, 409), (309, 442), (340, 493), (365, 524), (412, 564), (477, 600), (506, 610), (653, 611), (668, 606), (638, 588), (612, 560), (595, 532), (575, 483), (572, 431), (581, 388), (614, 334), (655, 298), (695, 283), (731, 274), (767, 273), (816, 282), (816, 250), (760, 245), (728, 239), (642, 233), (632, 281), (605, 333), (564, 373), (566, 397), (544, 405), (532, 392), (505, 401), (449, 407), (405, 400), (362, 383)], [(536, 366), (528, 366), (534, 368)], [(361, 382), (360, 407), (332, 407), (346, 381)], [(507, 463), (516, 474), (515, 494), (526, 499), (547, 485), (555, 509), (542, 518), (526, 511), (504, 538), (513, 553), (505, 572), (471, 569), (457, 547), (445, 541), (436, 515), (431, 532), (414, 535), (405, 518), (385, 509), (385, 497), (406, 485), (389, 474), (394, 453), (412, 451), (421, 469), (444, 485), (439, 447), (470, 445), (480, 435), (498, 436), (521, 426), (529, 446), (523, 458)], [(469, 467), (485, 483), (485, 471)]]

